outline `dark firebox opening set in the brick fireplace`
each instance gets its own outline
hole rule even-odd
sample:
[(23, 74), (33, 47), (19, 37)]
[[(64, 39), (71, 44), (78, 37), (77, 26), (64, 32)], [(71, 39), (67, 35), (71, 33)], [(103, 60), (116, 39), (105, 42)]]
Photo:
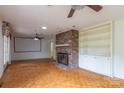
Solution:
[(57, 53), (57, 62), (68, 65), (68, 53)]

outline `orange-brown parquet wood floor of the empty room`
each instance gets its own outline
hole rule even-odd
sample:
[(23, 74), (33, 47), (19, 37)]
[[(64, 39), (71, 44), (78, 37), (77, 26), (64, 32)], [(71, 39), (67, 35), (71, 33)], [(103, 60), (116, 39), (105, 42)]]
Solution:
[(64, 70), (48, 60), (11, 64), (1, 80), (3, 88), (120, 88), (115, 80), (82, 69)]

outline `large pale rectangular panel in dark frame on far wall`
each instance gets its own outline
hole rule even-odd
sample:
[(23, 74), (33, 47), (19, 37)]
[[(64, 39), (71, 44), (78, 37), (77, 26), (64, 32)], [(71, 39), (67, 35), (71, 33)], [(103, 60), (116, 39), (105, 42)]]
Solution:
[(41, 40), (16, 37), (14, 38), (14, 51), (15, 52), (40, 52)]

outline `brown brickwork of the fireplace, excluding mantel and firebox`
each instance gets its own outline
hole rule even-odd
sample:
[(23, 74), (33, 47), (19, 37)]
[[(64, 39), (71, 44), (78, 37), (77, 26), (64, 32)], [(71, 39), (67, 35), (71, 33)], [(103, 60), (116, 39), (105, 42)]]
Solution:
[(77, 30), (69, 30), (56, 35), (56, 44), (69, 44), (69, 46), (61, 46), (56, 48), (56, 52), (64, 52), (69, 54), (69, 67), (78, 67), (78, 38)]

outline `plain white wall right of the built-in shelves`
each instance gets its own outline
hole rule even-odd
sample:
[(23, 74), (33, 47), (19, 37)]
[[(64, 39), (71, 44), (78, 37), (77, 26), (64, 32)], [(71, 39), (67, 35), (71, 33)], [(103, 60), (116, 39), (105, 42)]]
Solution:
[(124, 20), (114, 22), (114, 76), (124, 79)]

